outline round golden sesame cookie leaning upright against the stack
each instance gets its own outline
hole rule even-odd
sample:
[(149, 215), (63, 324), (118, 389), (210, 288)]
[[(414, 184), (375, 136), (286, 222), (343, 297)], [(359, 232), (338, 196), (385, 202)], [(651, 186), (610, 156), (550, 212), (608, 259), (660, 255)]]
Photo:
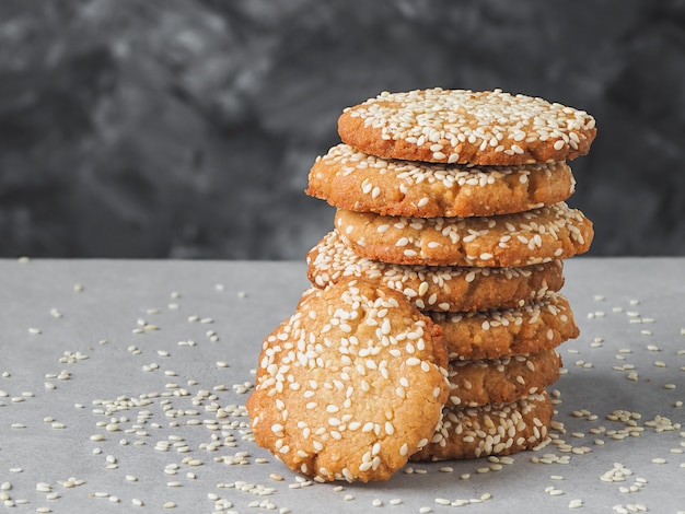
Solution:
[(446, 401), (440, 330), (402, 293), (360, 280), (307, 290), (262, 348), (255, 441), (318, 480), (385, 480)]

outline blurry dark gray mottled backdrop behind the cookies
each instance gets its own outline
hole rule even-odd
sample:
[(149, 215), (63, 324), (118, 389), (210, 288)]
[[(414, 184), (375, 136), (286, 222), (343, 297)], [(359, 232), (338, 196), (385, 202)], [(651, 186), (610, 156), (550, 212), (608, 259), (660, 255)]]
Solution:
[(501, 87), (593, 114), (593, 255), (685, 255), (683, 0), (0, 2), (0, 256), (301, 259), (348, 105)]

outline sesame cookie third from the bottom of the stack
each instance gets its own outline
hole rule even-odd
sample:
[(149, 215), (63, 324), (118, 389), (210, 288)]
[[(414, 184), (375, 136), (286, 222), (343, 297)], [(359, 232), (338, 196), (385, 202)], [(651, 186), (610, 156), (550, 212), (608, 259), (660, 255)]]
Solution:
[(580, 335), (568, 300), (554, 292), (523, 307), (427, 314), (442, 328), (450, 360), (524, 355), (556, 348)]

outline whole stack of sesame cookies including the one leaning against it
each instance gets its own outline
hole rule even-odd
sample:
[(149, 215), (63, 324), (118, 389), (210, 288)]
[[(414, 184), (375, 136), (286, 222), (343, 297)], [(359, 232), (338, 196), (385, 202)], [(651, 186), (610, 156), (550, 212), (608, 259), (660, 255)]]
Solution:
[[(286, 436), (282, 423), (275, 421), (292, 416), (292, 409), (283, 405), (267, 416), (269, 409), (264, 407), (283, 366), (274, 352), (278, 348), (280, 353), (290, 352), (288, 370), (294, 362), (310, 372), (348, 370), (338, 385), (335, 379), (329, 383), (330, 389), (345, 389), (351, 399), (355, 412), (347, 412), (348, 421), (360, 411), (370, 416), (373, 409), (393, 420), (392, 434), (379, 420), (365, 423), (375, 442), (356, 439), (351, 423), (338, 414), (333, 424), (342, 424), (346, 431), (335, 435), (326, 424), (330, 419), (318, 420), (324, 440), (340, 435), (348, 447), (364, 448), (367, 457), (359, 465), (340, 467), (340, 462), (355, 462), (351, 451), (328, 451), (318, 441), (324, 449), (317, 452), (300, 433), (295, 440), (306, 457), (279, 456), (309, 475), (379, 480), (407, 459), (506, 455), (544, 443), (553, 416), (546, 388), (561, 366), (556, 348), (579, 334), (568, 301), (559, 293), (562, 261), (587, 252), (593, 236), (592, 223), (566, 203), (574, 190), (568, 161), (589, 151), (596, 132), (594, 119), (582, 110), (499, 90), (433, 89), (383, 93), (349, 107), (338, 120), (338, 132), (342, 143), (316, 160), (306, 190), (337, 208), (335, 226), (307, 254), (313, 287), (298, 313), (264, 343), (257, 386), (248, 402), (257, 442), (277, 455), (283, 446), (293, 451), (293, 434)], [(350, 316), (368, 319), (369, 313), (378, 314), (372, 304), (379, 299), (397, 305), (392, 324), (372, 336), (364, 332), (364, 339), (358, 334), (359, 320), (350, 328), (352, 337), (345, 330), (337, 339), (330, 335)], [(371, 306), (360, 307), (364, 303)], [(406, 320), (408, 331), (399, 319)], [(323, 326), (315, 327), (316, 323)], [(371, 323), (383, 327), (379, 319)], [(279, 341), (288, 341), (289, 350)], [(355, 344), (364, 347), (363, 355), (382, 355), (381, 361), (360, 369), (361, 353), (350, 360)], [(416, 370), (415, 359), (423, 372), (403, 375)], [(406, 365), (408, 360), (413, 366)], [(362, 377), (357, 381), (365, 393), (361, 395), (347, 384), (357, 383), (350, 369), (363, 376), (371, 370), (378, 374), (381, 365), (386, 370), (381, 378), (390, 382)], [(390, 369), (403, 371), (388, 374)], [(287, 382), (280, 372), (281, 390)], [(405, 401), (417, 387), (409, 383), (431, 390), (420, 409), (410, 401), (393, 401), (397, 397)], [(301, 384), (295, 387), (300, 390)], [(416, 395), (411, 398), (416, 400)], [(342, 409), (320, 404), (311, 405), (318, 414), (322, 408)], [(411, 430), (397, 424), (400, 410)], [(277, 425), (277, 433), (256, 430), (266, 419)], [(311, 436), (310, 424), (302, 420), (300, 424)], [(399, 441), (388, 444), (398, 433)], [(383, 454), (386, 447), (392, 452), (403, 447), (402, 458)], [(324, 454), (330, 458), (324, 459)]]

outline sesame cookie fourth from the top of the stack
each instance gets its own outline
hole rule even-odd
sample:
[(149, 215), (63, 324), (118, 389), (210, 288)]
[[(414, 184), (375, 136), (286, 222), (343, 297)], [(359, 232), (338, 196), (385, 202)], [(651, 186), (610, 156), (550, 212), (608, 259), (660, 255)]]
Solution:
[(359, 257), (335, 231), (306, 255), (307, 277), (325, 288), (349, 277), (402, 291), (423, 311), (488, 311), (523, 306), (564, 285), (564, 264), (521, 268), (392, 265)]

